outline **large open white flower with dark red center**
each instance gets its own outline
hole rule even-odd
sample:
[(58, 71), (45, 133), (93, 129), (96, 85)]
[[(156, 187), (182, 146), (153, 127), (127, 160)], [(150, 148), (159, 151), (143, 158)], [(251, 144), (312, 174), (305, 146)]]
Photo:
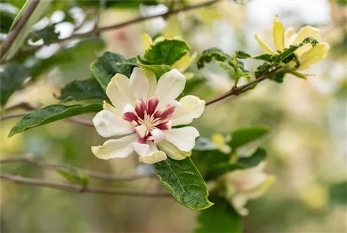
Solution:
[(163, 74), (158, 83), (153, 72), (146, 76), (137, 67), (130, 79), (116, 74), (106, 89), (113, 106), (104, 102), (93, 123), (105, 138), (122, 137), (93, 146), (93, 154), (113, 159), (135, 151), (144, 163), (156, 163), (167, 156), (176, 160), (190, 156), (198, 131), (194, 127), (173, 127), (200, 117), (205, 101), (193, 95), (176, 101), (184, 88), (185, 77), (176, 69)]

